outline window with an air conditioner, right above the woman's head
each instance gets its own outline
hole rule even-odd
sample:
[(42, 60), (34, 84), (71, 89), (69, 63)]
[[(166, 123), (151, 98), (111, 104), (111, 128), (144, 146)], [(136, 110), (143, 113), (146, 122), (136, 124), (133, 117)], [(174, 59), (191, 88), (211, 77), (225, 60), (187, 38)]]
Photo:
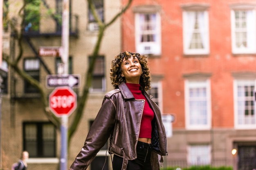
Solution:
[(159, 13), (135, 14), (135, 45), (140, 54), (161, 54), (161, 21)]

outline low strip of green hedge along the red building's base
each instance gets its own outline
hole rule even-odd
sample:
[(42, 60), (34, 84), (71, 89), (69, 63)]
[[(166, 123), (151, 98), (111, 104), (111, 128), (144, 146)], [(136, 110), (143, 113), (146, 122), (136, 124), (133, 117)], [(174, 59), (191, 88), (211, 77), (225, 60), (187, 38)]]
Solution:
[[(176, 170), (178, 167), (160, 168), (160, 170)], [(207, 166), (191, 166), (189, 168), (180, 168), (180, 170), (233, 170), (230, 166), (211, 167)]]

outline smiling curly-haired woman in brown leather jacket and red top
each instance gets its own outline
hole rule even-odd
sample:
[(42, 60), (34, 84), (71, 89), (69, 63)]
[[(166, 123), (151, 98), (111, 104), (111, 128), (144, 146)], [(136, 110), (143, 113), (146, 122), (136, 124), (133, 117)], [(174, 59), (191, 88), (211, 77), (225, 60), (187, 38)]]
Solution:
[(161, 113), (150, 99), (147, 58), (121, 52), (112, 61), (108, 92), (91, 126), (85, 144), (70, 170), (86, 169), (110, 138), (113, 170), (159, 170), (157, 154), (167, 155)]

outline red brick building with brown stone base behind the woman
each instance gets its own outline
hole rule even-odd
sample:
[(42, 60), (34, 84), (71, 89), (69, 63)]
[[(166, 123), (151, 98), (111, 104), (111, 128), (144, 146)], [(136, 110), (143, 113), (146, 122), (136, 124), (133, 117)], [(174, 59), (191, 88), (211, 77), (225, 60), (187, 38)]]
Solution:
[(134, 0), (121, 29), (175, 116), (165, 164), (256, 168), (256, 1)]

